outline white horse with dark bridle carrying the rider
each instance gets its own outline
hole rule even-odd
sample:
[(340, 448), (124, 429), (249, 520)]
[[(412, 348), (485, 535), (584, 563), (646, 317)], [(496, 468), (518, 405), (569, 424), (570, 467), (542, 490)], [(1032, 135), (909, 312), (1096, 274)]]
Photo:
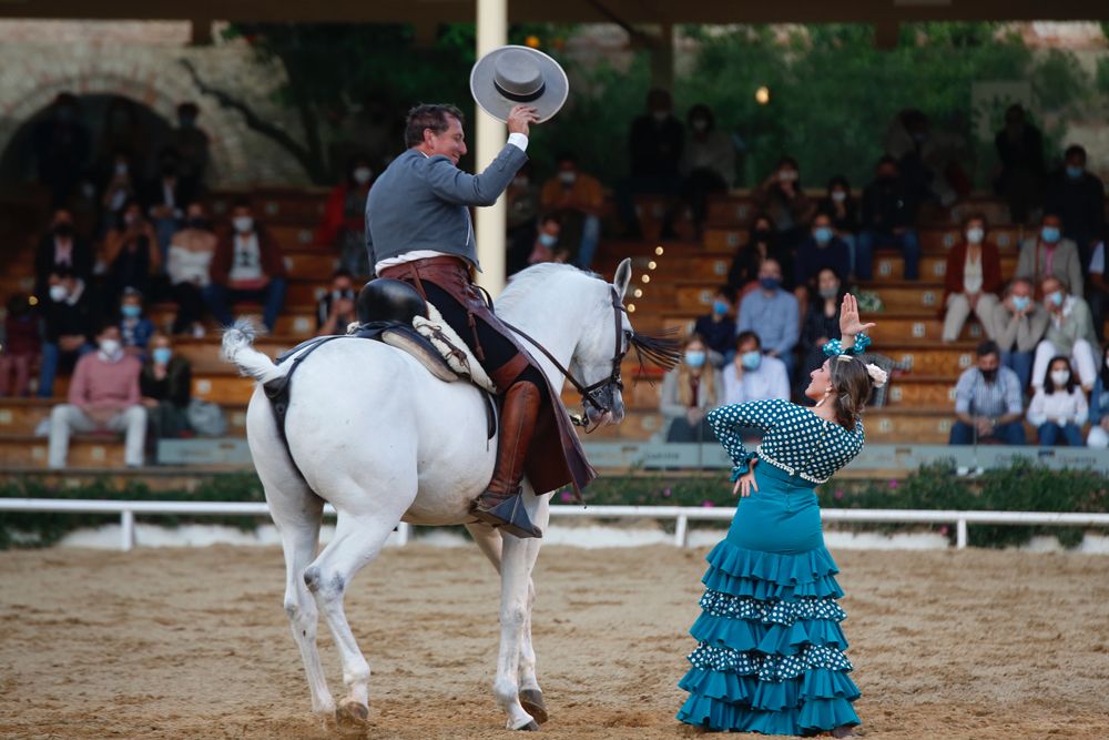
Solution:
[[(586, 409), (596, 424), (623, 418), (619, 361), (639, 343), (621, 305), (630, 280), (629, 260), (613, 284), (568, 265), (537, 265), (517, 275), (497, 304), (499, 316), (541, 343), (581, 385), (598, 384), (593, 394), (600, 403)], [(400, 521), (466, 524), (501, 578), (494, 693), (509, 729), (538, 729), (547, 712), (531, 645), (531, 571), (542, 540), (501, 536), (469, 515), (470, 503), (492, 476), (497, 450), (496, 439), (487, 440), (480, 392), (436, 379), (388, 345), (330, 342), (305, 358), (293, 377), (286, 448), (261, 384), (287, 373), (293, 363), (275, 365), (252, 347), (253, 339), (248, 324), (238, 324), (224, 334), (223, 353), (260, 382), (246, 412), (247, 440), (281, 531), (285, 611), (313, 711), (334, 712), (343, 726), (367, 722), (369, 665), (343, 611), (355, 574), (378, 556)], [(561, 388), (561, 372), (539, 352), (532, 354), (551, 386)], [(546, 529), (550, 491), (535, 493), (525, 481), (528, 515)], [(338, 520), (334, 539), (317, 555), (324, 501), (335, 507)], [(319, 611), (343, 660), (347, 695), (337, 707), (316, 648)]]

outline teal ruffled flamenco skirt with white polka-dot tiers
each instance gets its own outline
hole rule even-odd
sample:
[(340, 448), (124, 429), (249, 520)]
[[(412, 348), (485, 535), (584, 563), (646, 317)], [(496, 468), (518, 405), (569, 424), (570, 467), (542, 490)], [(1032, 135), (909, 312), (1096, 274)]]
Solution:
[(698, 640), (679, 686), (678, 719), (718, 731), (807, 736), (859, 723), (851, 702), (836, 600), (814, 484), (769, 463), (709, 554)]

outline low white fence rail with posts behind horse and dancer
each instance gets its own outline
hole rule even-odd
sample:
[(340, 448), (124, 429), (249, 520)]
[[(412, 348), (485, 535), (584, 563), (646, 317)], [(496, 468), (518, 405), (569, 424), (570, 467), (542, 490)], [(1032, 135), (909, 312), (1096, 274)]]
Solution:
[[(255, 501), (124, 501), (65, 498), (0, 498), (0, 511), (62, 511), (70, 514), (119, 514), (120, 549), (135, 545), (136, 514), (177, 514), (190, 516), (268, 516), (263, 503)], [(325, 515), (335, 515), (327, 505)], [(728, 521), (731, 507), (702, 508), (692, 506), (552, 506), (552, 517), (590, 517), (602, 519), (674, 519), (674, 545), (685, 547), (689, 523), (698, 520)], [(1109, 527), (1109, 514), (1061, 514), (1049, 511), (958, 511), (920, 509), (822, 509), (824, 521), (858, 521), (868, 524), (950, 524), (956, 527), (955, 546), (967, 546), (967, 526), (1048, 525), (1062, 527)], [(397, 527), (397, 544), (406, 545), (411, 527)]]

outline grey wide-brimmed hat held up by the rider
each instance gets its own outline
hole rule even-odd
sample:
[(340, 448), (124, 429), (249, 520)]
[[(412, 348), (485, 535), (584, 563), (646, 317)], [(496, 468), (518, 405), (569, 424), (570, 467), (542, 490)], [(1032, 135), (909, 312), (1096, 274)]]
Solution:
[(562, 108), (570, 82), (559, 63), (529, 47), (494, 49), (474, 64), (470, 93), (477, 104), (498, 121), (506, 121), (516, 105), (531, 105), (546, 121)]

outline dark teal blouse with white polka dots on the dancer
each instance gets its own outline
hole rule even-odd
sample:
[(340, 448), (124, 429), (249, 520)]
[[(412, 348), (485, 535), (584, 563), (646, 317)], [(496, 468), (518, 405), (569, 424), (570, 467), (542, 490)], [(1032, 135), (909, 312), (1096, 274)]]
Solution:
[[(811, 408), (779, 398), (721, 406), (706, 418), (735, 465), (732, 480), (745, 474), (750, 462), (757, 457), (790, 475), (824, 483), (863, 448), (862, 419), (848, 432)], [(739, 434), (742, 428), (763, 433), (757, 450), (747, 452), (743, 446)]]

